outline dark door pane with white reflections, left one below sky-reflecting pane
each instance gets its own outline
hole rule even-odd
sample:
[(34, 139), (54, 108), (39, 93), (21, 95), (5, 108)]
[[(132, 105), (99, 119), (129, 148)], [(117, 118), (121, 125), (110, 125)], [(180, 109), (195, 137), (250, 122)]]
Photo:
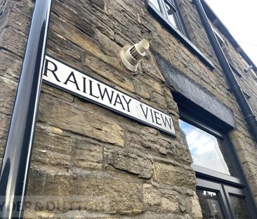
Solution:
[(203, 219), (223, 218), (223, 211), (220, 208), (216, 192), (209, 192), (197, 189), (197, 196), (202, 209)]

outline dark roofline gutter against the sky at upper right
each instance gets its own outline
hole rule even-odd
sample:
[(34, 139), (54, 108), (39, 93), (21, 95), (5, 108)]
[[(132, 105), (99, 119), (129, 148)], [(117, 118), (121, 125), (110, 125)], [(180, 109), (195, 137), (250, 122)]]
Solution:
[(214, 13), (214, 11), (210, 8), (210, 6), (204, 0), (202, 0), (202, 6), (204, 8), (204, 11), (205, 11), (207, 17), (211, 20), (213, 25), (216, 26), (218, 28), (218, 30), (220, 30), (220, 32), (223, 33), (223, 35), (225, 35), (225, 37), (228, 39), (230, 44), (232, 44), (232, 46), (235, 48), (235, 50), (240, 54), (240, 56), (242, 56), (249, 65), (253, 65), (253, 70), (257, 74), (256, 65), (253, 63), (253, 61), (251, 61), (251, 58), (249, 58), (249, 56), (247, 56), (247, 54), (244, 52), (242, 47), (237, 43), (235, 38), (230, 34), (227, 27), (225, 27), (225, 25), (221, 22), (221, 20), (218, 18), (216, 13)]

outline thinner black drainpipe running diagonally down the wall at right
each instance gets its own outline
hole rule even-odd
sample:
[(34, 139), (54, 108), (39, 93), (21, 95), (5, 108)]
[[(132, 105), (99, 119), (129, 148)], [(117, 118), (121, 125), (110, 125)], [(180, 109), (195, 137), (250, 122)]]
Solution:
[(201, 1), (194, 0), (193, 4), (195, 4), (195, 7), (197, 8), (199, 17), (201, 18), (202, 23), (204, 25), (204, 29), (206, 30), (206, 34), (208, 35), (208, 38), (211, 42), (211, 46), (213, 47), (213, 50), (218, 58), (218, 62), (220, 63), (223, 73), (228, 80), (228, 84), (230, 85), (230, 89), (232, 93), (235, 95), (235, 98), (237, 99), (237, 103), (239, 104), (239, 107), (244, 115), (244, 119), (246, 120), (246, 123), (249, 126), (249, 131), (251, 132), (251, 134), (253, 135), (253, 138), (257, 142), (256, 116), (253, 115), (253, 111), (251, 110), (251, 107), (249, 106), (244, 96), (244, 93), (242, 92), (242, 89), (237, 83), (235, 75), (232, 72), (232, 69), (230, 68), (230, 64), (228, 63), (228, 60), (223, 53), (223, 50), (220, 48), (218, 39), (216, 38), (211, 28), (211, 25), (209, 23), (208, 17), (204, 11)]

